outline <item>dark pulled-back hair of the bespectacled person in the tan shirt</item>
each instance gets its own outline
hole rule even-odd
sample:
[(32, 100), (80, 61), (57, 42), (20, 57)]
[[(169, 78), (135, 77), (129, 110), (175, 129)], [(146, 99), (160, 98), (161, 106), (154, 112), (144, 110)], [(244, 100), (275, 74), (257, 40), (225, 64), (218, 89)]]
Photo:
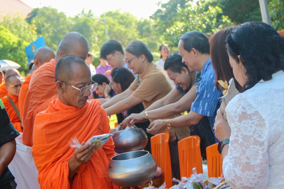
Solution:
[(135, 56), (144, 54), (148, 62), (152, 62), (154, 59), (153, 54), (151, 53), (150, 49), (142, 41), (138, 41), (138, 40), (132, 41), (131, 43), (127, 45), (127, 47), (125, 48), (125, 51)]

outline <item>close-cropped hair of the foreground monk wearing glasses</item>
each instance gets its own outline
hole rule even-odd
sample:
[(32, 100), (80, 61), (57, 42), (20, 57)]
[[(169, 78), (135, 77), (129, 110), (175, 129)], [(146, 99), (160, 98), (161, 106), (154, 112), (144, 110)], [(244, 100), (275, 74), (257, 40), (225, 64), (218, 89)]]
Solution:
[(64, 56), (60, 58), (56, 63), (54, 73), (55, 80), (68, 81), (70, 79), (73, 79), (76, 74), (75, 72), (79, 71), (73, 69), (74, 64), (89, 69), (89, 67), (82, 58), (79, 58), (78, 56), (74, 55)]

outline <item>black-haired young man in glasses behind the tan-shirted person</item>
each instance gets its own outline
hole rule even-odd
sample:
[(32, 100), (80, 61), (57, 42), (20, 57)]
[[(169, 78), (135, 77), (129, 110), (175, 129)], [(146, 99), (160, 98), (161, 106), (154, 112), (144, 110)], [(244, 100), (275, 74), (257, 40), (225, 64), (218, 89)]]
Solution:
[(124, 62), (124, 52), (118, 41), (113, 39), (107, 41), (101, 48), (100, 56), (101, 58), (104, 58), (105, 63), (112, 66), (112, 68), (119, 66), (127, 68), (132, 74), (134, 74), (134, 77), (137, 77), (137, 74), (133, 73), (133, 70), (131, 70), (126, 62)]

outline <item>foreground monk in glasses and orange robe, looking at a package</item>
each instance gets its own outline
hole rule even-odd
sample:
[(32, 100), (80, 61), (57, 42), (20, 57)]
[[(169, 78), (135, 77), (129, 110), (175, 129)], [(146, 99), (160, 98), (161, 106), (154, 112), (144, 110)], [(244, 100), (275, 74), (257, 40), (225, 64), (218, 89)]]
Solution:
[[(94, 135), (110, 132), (109, 120), (99, 100), (87, 101), (97, 83), (84, 60), (70, 55), (60, 58), (55, 68), (58, 97), (47, 110), (36, 115), (32, 153), (41, 189), (119, 188), (108, 178), (114, 154), (110, 138), (99, 150), (85, 142)], [(80, 148), (70, 147), (77, 137)]]

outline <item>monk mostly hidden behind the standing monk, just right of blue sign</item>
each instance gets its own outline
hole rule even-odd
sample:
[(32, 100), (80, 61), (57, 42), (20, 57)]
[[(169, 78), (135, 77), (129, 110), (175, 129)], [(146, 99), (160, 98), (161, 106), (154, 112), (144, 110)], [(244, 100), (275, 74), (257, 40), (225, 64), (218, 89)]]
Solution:
[[(32, 65), (32, 68), (34, 67), (34, 70), (37, 70), (39, 66), (43, 65), (44, 63), (49, 62), (51, 59), (54, 59), (54, 58), (55, 58), (55, 53), (51, 48), (40, 47), (39, 49), (36, 50), (34, 54), (34, 64)], [(25, 78), (25, 81), (22, 83), (22, 87), (20, 89), (19, 110), (20, 110), (21, 118), (23, 117), (24, 101), (25, 101), (26, 94), (29, 89), (30, 80), (31, 80), (33, 73), (34, 71)]]

